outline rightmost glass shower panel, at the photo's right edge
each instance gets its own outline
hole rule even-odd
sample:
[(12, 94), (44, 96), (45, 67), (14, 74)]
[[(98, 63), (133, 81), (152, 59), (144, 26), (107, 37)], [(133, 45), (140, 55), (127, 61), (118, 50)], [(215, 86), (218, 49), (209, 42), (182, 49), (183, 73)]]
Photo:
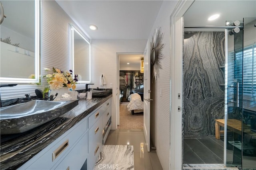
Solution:
[(244, 18), (242, 169), (256, 169), (256, 18)]

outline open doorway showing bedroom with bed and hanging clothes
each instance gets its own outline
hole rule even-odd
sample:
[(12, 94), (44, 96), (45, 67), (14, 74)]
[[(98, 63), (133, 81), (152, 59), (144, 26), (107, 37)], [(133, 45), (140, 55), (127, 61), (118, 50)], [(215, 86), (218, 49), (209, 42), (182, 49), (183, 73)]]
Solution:
[[(141, 94), (143, 95), (143, 72), (141, 72), (141, 59), (144, 54), (118, 53), (117, 57), (119, 75), (118, 129), (143, 129), (143, 96), (141, 98)], [(139, 109), (140, 104), (142, 104), (141, 109)], [(138, 107), (138, 109), (135, 110), (134, 107)]]

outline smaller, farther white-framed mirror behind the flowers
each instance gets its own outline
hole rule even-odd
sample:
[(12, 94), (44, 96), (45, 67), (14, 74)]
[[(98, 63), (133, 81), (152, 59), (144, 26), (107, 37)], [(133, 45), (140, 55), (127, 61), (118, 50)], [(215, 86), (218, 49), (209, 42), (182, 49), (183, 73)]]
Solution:
[(78, 83), (91, 81), (90, 42), (72, 26), (72, 70)]

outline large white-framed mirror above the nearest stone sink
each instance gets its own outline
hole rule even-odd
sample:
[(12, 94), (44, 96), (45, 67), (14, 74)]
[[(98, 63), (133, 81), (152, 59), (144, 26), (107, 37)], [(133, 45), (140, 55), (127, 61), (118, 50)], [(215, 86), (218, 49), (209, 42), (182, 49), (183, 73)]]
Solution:
[(39, 0), (1, 0), (1, 16), (0, 82), (39, 82)]

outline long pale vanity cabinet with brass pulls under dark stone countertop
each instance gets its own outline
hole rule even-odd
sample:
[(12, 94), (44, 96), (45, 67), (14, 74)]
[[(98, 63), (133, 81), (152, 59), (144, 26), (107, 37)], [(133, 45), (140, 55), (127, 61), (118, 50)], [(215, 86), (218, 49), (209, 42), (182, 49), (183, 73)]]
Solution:
[[(111, 100), (89, 113), (18, 169), (80, 170), (82, 167), (86, 169), (87, 164), (87, 169), (92, 170), (110, 131)], [(51, 133), (54, 131), (58, 129)]]

